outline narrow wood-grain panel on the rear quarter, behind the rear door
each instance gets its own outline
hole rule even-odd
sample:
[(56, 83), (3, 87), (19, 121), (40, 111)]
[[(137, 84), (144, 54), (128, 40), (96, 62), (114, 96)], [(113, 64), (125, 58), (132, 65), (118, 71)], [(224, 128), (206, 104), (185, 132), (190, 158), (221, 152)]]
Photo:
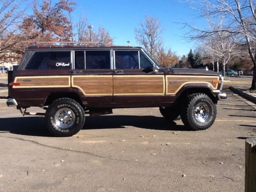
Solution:
[(25, 76), (16, 77), (20, 86), (13, 88), (63, 88), (70, 87), (70, 76)]

